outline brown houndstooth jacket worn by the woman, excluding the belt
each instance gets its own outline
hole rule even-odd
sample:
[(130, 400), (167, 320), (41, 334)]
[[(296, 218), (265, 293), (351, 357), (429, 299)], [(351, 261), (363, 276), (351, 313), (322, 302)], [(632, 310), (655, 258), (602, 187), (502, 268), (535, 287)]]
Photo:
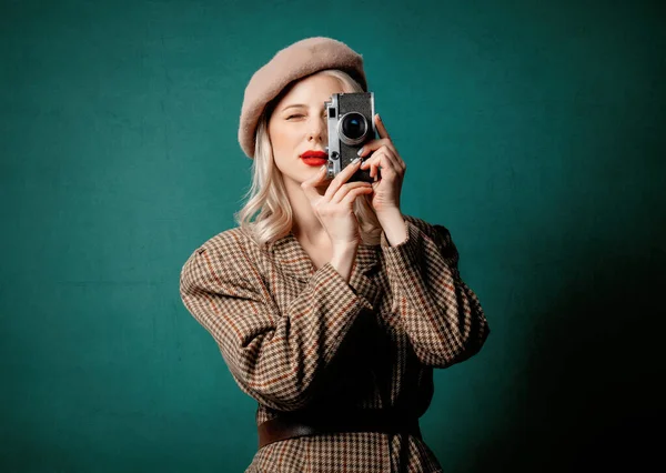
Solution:
[[(477, 353), (490, 329), (458, 273), (450, 232), (404, 215), (407, 239), (361, 244), (347, 283), (319, 270), (293, 233), (261, 249), (240, 228), (199, 246), (181, 271), (184, 305), (259, 403), (258, 424), (282, 411), (400, 407), (420, 417), (433, 369)], [(411, 434), (346, 432), (260, 449), (252, 472), (441, 472)]]

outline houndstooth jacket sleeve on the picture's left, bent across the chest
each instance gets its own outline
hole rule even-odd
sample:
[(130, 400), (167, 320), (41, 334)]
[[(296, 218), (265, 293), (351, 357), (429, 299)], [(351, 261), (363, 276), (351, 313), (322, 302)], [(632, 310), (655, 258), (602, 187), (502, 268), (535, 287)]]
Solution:
[(301, 409), (359, 313), (372, 306), (329, 262), (281, 313), (256, 271), (239, 266), (198, 249), (181, 270), (181, 299), (242, 391), (272, 409)]

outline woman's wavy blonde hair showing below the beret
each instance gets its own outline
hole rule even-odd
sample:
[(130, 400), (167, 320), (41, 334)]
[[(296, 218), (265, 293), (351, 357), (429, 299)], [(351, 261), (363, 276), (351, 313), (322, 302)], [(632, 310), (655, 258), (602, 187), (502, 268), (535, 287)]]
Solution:
[[(346, 72), (326, 69), (313, 76), (330, 76), (340, 80), (351, 92), (363, 92), (363, 88)], [(273, 150), (269, 138), (269, 120), (273, 109), (291, 85), (273, 99), (264, 109), (256, 127), (254, 160), (252, 163), (252, 185), (244, 195), (243, 208), (234, 214), (241, 230), (260, 246), (270, 245), (286, 235), (293, 223), (293, 212), (282, 172), (273, 161)], [(256, 215), (255, 215), (256, 214)], [(365, 244), (379, 244), (382, 227), (372, 209), (370, 197), (361, 195), (354, 201), (354, 214), (359, 220), (361, 239)], [(252, 218), (255, 215), (254, 220)]]

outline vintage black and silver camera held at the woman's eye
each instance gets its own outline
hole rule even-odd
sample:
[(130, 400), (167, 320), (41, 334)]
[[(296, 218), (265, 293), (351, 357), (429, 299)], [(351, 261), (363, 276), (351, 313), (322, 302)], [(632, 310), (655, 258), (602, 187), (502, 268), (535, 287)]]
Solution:
[[(329, 119), (329, 171), (335, 178), (347, 167), (363, 144), (375, 139), (374, 92), (334, 93), (324, 102)], [(359, 169), (347, 182), (374, 182), (370, 169)]]

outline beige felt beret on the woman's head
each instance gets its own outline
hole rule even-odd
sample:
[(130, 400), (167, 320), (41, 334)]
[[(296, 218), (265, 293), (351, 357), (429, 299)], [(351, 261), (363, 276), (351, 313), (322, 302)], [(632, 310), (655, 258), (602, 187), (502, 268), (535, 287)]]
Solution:
[(324, 37), (306, 38), (284, 48), (254, 72), (245, 88), (241, 109), (239, 143), (254, 159), (254, 132), (265, 105), (296, 79), (324, 69), (340, 69), (367, 91), (363, 57), (337, 40)]

